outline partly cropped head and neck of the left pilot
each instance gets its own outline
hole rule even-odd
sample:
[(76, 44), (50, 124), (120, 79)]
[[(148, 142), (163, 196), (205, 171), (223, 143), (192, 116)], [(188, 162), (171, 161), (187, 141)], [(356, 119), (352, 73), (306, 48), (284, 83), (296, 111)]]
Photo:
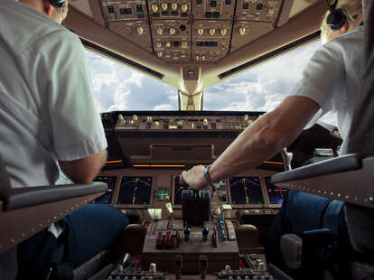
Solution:
[(68, 0), (61, 7), (51, 5), (50, 0), (19, 0), (24, 4), (31, 5), (42, 14), (47, 15), (56, 23), (62, 23), (68, 15)]

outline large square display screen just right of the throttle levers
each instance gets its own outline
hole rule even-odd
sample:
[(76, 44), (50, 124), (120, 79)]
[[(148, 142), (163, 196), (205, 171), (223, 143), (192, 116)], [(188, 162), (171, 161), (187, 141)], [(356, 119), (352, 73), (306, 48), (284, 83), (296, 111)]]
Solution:
[(258, 177), (231, 177), (229, 179), (231, 204), (264, 204)]

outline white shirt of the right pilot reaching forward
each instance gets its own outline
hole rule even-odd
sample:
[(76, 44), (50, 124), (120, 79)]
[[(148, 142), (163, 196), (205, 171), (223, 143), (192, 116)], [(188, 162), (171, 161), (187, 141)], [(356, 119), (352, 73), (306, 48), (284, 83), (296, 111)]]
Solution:
[(336, 111), (341, 137), (345, 139), (348, 135), (356, 97), (360, 94), (363, 38), (363, 26), (360, 26), (323, 44), (313, 54), (303, 78), (290, 93), (290, 96), (311, 98), (320, 106), (308, 127), (319, 117)]

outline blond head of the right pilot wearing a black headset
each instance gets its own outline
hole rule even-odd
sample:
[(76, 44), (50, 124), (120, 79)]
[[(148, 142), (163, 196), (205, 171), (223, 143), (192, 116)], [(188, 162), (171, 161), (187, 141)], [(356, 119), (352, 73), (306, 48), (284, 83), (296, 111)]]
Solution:
[(328, 23), (328, 17), (332, 14), (330, 9), (324, 14), (321, 24), (321, 39), (323, 42), (329, 42), (341, 34), (355, 29), (363, 20), (361, 0), (339, 0), (333, 10), (341, 12), (345, 18), (343, 17), (341, 24), (332, 26), (333, 24)]

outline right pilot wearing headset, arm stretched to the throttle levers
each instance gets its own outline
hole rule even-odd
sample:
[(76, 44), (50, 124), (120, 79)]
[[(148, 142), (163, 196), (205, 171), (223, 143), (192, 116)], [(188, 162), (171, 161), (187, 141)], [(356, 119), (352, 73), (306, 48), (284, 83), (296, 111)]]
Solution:
[[(194, 166), (183, 172), (184, 181), (194, 189), (203, 189), (212, 182), (244, 172), (292, 144), (305, 126), (312, 126), (319, 117), (331, 111), (337, 111), (339, 131), (345, 139), (360, 89), (364, 40), (360, 23), (361, 0), (335, 2), (325, 14), (321, 26), (325, 43), (313, 54), (295, 89), (279, 106), (238, 135), (214, 163)], [(346, 149), (345, 145), (344, 141), (341, 154)], [(270, 256), (280, 256), (279, 240), (287, 231), (285, 228), (292, 229), (295, 234), (321, 229), (324, 210), (330, 204), (337, 213), (335, 226), (339, 235), (343, 242), (347, 241), (344, 204), (341, 201), (332, 204), (331, 200), (323, 197), (290, 191), (269, 233)]]

